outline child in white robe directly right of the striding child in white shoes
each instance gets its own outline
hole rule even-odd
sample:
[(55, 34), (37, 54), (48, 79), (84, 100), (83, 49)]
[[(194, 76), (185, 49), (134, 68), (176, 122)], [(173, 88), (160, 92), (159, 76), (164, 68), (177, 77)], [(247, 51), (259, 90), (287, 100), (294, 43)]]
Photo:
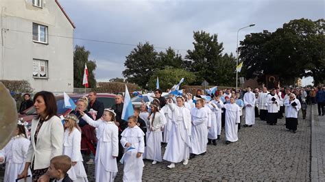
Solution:
[(192, 132), (191, 132), (191, 148), (190, 158), (195, 157), (195, 155), (200, 155), (206, 153), (206, 143), (208, 136), (208, 114), (206, 109), (203, 107), (204, 101), (198, 99), (196, 101), (196, 107), (191, 110), (192, 118)]

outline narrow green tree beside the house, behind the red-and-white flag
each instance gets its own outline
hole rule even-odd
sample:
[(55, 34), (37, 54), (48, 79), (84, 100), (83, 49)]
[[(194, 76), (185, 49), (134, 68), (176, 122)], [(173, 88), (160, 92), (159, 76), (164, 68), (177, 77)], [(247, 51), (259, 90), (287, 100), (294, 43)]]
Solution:
[(75, 88), (82, 88), (82, 80), (84, 78), (84, 65), (87, 64), (88, 68), (88, 84), (89, 88), (96, 87), (95, 79), (95, 60), (88, 60), (90, 51), (86, 51), (84, 46), (75, 45), (75, 51), (73, 51), (73, 86)]

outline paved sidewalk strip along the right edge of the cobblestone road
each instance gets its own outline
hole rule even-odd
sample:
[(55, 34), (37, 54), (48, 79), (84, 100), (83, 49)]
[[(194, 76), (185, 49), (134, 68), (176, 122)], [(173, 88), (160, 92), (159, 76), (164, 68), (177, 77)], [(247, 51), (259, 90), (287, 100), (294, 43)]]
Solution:
[(311, 109), (311, 181), (325, 181), (325, 116)]

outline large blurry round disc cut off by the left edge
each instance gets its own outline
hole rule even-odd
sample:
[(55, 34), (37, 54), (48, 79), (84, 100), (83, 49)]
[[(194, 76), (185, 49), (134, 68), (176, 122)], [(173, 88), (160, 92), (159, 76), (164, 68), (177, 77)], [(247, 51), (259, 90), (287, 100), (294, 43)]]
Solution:
[(2, 82), (0, 82), (0, 149), (12, 138), (17, 127), (16, 102)]

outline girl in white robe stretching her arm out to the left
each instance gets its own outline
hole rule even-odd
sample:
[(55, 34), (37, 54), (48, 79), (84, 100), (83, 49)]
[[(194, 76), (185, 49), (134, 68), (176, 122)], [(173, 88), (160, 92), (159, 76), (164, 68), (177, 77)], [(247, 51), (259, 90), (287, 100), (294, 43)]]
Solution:
[(114, 181), (117, 174), (117, 156), (119, 155), (119, 129), (115, 125), (115, 112), (104, 109), (103, 120), (93, 120), (84, 112), (82, 118), (89, 125), (98, 128), (98, 139), (95, 155), (96, 181)]

